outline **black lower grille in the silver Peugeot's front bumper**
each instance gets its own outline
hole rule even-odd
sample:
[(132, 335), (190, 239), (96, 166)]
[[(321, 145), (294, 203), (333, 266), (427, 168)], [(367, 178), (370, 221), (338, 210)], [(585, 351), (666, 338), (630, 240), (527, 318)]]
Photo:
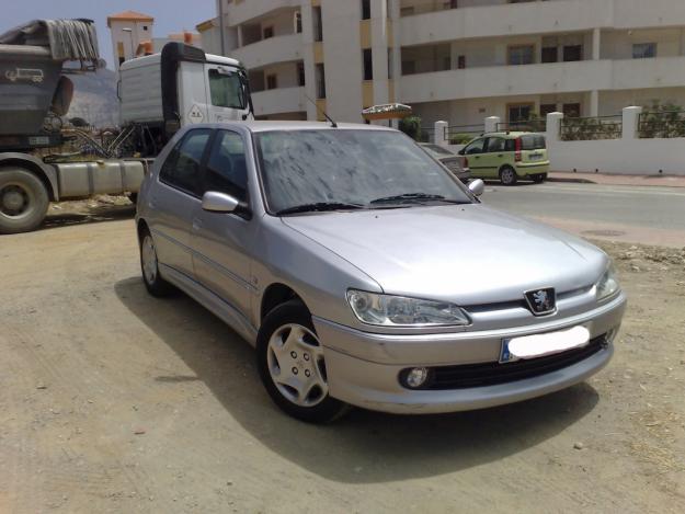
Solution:
[(479, 363), (434, 367), (431, 380), (424, 389), (466, 389), (537, 377), (580, 363), (604, 349), (606, 346), (605, 341), (605, 334), (603, 334), (592, 339), (587, 345), (581, 349), (513, 363)]

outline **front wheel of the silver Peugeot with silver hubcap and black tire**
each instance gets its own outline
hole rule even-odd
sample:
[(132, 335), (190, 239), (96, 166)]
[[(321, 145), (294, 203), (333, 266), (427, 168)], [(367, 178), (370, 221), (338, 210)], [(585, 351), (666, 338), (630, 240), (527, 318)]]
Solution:
[(256, 338), (256, 361), (262, 382), (284, 412), (308, 423), (329, 423), (347, 410), (331, 398), (311, 315), (295, 299), (273, 309)]

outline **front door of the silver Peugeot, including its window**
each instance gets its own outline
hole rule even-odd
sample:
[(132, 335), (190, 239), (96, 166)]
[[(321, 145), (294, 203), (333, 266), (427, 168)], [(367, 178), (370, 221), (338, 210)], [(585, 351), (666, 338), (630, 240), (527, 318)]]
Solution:
[[(247, 141), (238, 133), (217, 130), (203, 173), (203, 193), (217, 192), (249, 205)], [(256, 222), (236, 213), (196, 210), (191, 245), (196, 281), (243, 316), (250, 312), (251, 250)]]

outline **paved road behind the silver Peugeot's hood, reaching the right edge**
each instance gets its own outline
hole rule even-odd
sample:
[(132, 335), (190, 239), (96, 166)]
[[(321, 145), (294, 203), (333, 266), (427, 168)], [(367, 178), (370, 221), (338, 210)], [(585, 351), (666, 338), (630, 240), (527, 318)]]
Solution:
[(578, 183), (489, 184), (483, 202), (584, 237), (685, 247), (685, 190)]

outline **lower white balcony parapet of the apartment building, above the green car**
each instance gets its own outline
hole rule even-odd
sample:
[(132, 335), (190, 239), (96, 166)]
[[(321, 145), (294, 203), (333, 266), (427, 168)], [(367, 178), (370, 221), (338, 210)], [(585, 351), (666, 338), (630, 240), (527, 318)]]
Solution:
[(685, 57), (582, 60), (526, 66), (467, 68), (403, 76), (401, 101), (553, 94), (614, 89), (682, 87)]

